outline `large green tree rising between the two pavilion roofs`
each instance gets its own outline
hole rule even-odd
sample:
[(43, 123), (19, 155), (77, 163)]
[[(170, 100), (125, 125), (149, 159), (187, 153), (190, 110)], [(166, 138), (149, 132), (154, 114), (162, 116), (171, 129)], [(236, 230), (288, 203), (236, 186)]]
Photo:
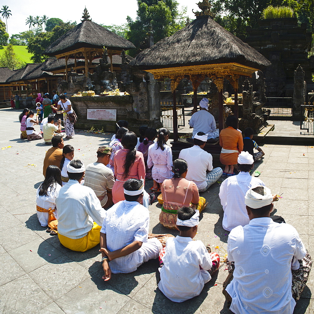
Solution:
[(175, 0), (138, 0), (136, 19), (133, 21), (129, 16), (127, 17), (130, 30), (127, 31), (126, 38), (136, 48), (144, 48), (143, 42), (150, 28), (153, 31), (154, 42), (160, 41), (185, 26), (183, 17), (185, 13), (186, 8), (179, 12)]

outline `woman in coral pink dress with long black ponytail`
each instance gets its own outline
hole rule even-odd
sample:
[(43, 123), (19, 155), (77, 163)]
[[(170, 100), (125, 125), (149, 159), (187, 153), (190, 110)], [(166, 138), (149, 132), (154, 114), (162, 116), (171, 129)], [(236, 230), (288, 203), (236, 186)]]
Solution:
[[(112, 188), (112, 200), (113, 203), (123, 201), (124, 192), (123, 184), (128, 179), (134, 178), (143, 180), (145, 185), (145, 163), (144, 157), (141, 152), (135, 150), (137, 144), (137, 136), (134, 132), (124, 133), (121, 138), (123, 149), (116, 152), (114, 158), (114, 168), (116, 175), (116, 182)], [(149, 195), (144, 191), (143, 205), (148, 208), (147, 198)]]

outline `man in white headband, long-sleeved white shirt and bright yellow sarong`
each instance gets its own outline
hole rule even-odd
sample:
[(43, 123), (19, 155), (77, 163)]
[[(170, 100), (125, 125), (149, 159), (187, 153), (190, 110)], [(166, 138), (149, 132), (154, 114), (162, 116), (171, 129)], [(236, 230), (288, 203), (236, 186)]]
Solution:
[(80, 184), (84, 173), (83, 162), (72, 160), (68, 166), (69, 181), (56, 198), (60, 243), (79, 252), (99, 243), (100, 228), (106, 216), (95, 192)]

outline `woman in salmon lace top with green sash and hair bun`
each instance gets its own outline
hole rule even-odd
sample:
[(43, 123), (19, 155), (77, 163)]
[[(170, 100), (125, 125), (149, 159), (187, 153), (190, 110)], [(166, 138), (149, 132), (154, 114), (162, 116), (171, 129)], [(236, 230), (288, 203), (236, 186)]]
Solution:
[(159, 215), (160, 223), (170, 229), (176, 229), (177, 210), (183, 206), (190, 206), (201, 212), (206, 200), (198, 194), (198, 188), (193, 181), (188, 181), (187, 162), (177, 159), (173, 162), (174, 175), (162, 183), (161, 192), (163, 205)]

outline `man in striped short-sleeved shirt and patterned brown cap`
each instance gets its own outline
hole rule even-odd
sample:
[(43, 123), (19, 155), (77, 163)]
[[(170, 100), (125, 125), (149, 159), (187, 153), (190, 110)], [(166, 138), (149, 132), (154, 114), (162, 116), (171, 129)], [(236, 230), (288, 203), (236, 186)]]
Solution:
[(86, 167), (84, 186), (95, 192), (103, 208), (113, 205), (112, 187), (115, 183), (113, 172), (106, 167), (112, 153), (111, 147), (101, 146), (97, 149), (97, 161)]

